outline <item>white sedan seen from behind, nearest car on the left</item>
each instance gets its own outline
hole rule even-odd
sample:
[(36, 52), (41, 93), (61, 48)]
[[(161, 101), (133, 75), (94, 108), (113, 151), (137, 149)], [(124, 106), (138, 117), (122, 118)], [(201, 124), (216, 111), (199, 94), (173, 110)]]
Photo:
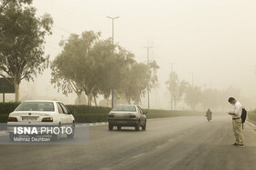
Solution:
[[(9, 114), (7, 127), (11, 141), (16, 137), (14, 130), (16, 126), (58, 126), (72, 128), (72, 133), (67, 134), (69, 138), (74, 137), (75, 118), (69, 109), (59, 101), (31, 100), (25, 101)], [(59, 140), (60, 134), (52, 134), (53, 140)]]

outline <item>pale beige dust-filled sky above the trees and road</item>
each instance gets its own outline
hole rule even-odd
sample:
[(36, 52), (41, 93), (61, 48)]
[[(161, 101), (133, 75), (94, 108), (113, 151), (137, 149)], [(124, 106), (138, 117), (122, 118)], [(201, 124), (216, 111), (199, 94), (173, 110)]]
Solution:
[[(153, 92), (153, 105), (168, 108), (165, 81), (170, 63), (180, 79), (211, 88), (241, 89), (241, 95), (256, 95), (256, 1), (253, 0), (34, 0), (37, 14), (54, 19), (53, 35), (47, 38), (46, 53), (59, 54), (59, 40), (70, 33), (101, 31), (145, 62), (160, 65), (160, 86)], [(37, 78), (37, 95), (57, 95), (49, 83), (50, 72)], [(24, 83), (23, 85), (29, 85)], [(48, 90), (47, 90), (48, 89)], [(75, 95), (60, 99), (71, 103)], [(57, 97), (56, 97), (57, 98)], [(145, 102), (145, 100), (143, 100)]]

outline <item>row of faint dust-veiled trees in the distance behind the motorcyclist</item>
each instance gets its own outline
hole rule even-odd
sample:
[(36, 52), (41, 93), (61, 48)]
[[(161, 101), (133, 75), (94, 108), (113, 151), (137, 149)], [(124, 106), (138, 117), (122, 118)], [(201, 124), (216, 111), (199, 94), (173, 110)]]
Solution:
[(240, 89), (233, 87), (219, 90), (191, 85), (187, 81), (179, 79), (174, 71), (170, 73), (165, 84), (169, 92), (172, 110), (176, 110), (176, 105), (180, 102), (186, 103), (191, 110), (195, 110), (198, 105), (205, 110), (208, 108), (225, 110), (229, 106), (227, 105), (229, 96), (240, 96)]

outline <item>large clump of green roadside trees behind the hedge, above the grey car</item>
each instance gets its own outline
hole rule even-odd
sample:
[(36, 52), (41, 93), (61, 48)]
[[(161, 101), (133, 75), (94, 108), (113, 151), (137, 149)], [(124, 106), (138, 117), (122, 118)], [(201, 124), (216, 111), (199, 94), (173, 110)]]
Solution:
[(110, 98), (121, 96), (126, 103), (139, 104), (147, 89), (151, 90), (156, 82), (155, 61), (137, 63), (132, 52), (121, 45), (112, 45), (112, 39), (102, 39), (101, 33), (85, 31), (81, 35), (70, 35), (61, 40), (62, 52), (51, 63), (51, 83), (64, 95), (76, 93), (78, 104), (81, 94), (87, 96), (87, 105), (97, 104), (102, 95)]

